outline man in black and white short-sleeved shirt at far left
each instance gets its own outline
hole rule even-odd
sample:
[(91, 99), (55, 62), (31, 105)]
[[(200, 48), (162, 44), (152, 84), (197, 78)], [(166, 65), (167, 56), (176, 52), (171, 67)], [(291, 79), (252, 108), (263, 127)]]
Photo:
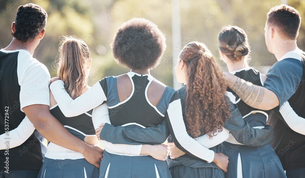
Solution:
[[(0, 177), (37, 177), (46, 151), (42, 136), (82, 153), (98, 168), (101, 162), (102, 149), (70, 134), (49, 112), (50, 74), (33, 58), (45, 34), (47, 17), (38, 5), (21, 5), (12, 24), (13, 40), (0, 50), (0, 134), (7, 137), (1, 140), (6, 148), (0, 151)], [(38, 132), (19, 146), (10, 147), (9, 131), (20, 125), (26, 115)]]

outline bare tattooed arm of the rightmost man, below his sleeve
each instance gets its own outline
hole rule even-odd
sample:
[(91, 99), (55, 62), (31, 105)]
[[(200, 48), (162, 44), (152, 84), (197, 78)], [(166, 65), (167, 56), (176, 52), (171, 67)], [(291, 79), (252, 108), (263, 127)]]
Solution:
[(254, 85), (230, 73), (225, 72), (225, 76), (228, 80), (228, 87), (249, 106), (270, 110), (279, 105), (278, 97), (273, 91)]

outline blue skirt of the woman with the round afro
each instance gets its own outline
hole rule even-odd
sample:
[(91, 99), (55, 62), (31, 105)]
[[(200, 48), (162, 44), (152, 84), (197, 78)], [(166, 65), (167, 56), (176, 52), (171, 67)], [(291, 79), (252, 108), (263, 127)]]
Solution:
[(121, 156), (104, 150), (100, 178), (171, 178), (166, 161), (151, 156)]

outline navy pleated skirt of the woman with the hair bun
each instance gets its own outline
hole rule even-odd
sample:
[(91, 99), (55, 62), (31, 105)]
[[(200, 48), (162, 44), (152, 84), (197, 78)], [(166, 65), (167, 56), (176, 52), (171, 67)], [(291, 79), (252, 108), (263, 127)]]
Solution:
[[(237, 174), (247, 178), (286, 178), (282, 164), (271, 144), (251, 147), (222, 142), (222, 153), (229, 157), (226, 178), (236, 178)], [(240, 157), (241, 167), (238, 165)], [(239, 172), (238, 172), (239, 170)]]

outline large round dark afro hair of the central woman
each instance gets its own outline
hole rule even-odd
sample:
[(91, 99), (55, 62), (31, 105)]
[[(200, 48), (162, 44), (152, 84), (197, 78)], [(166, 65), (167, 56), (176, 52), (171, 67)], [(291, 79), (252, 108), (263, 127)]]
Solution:
[(133, 18), (117, 28), (110, 46), (118, 64), (129, 69), (153, 69), (165, 51), (165, 35), (153, 22)]

